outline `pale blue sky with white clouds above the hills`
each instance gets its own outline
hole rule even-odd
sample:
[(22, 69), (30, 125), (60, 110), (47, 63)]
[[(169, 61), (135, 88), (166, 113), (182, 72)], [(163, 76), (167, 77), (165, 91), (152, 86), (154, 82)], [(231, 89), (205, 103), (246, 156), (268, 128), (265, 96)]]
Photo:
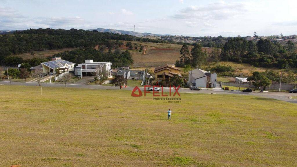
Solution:
[(0, 0), (0, 30), (118, 29), (184, 36), (297, 34), (295, 0)]

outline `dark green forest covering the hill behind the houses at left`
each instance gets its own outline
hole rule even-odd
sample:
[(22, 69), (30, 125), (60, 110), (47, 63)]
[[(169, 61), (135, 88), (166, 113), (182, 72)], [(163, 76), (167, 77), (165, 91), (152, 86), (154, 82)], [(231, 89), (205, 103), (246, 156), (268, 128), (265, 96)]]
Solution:
[[(92, 47), (108, 45), (110, 40), (132, 41), (127, 34), (102, 33), (82, 29), (29, 29), (0, 36), (0, 64), (4, 58), (32, 51), (56, 50), (61, 48)], [(160, 39), (135, 37), (136, 41), (165, 43)]]

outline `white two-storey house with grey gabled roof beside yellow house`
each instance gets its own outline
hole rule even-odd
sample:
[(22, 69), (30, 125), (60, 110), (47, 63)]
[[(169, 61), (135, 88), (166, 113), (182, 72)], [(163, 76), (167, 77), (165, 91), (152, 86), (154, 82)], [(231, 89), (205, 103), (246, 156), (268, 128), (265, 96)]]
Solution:
[(203, 88), (212, 88), (217, 86), (217, 74), (211, 74), (199, 68), (189, 71), (189, 85)]

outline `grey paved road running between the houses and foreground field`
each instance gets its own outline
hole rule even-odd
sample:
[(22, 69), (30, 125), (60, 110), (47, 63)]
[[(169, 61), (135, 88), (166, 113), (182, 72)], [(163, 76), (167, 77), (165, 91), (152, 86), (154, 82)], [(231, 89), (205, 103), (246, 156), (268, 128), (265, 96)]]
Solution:
[[(9, 81), (0, 81), (0, 85), (10, 85)], [(38, 86), (36, 82), (12, 82), (12, 85), (23, 85), (23, 86)], [(63, 84), (59, 83), (41, 83), (42, 86), (48, 86), (48, 87), (65, 87)], [(100, 85), (81, 85), (81, 84), (67, 84), (67, 87), (69, 88), (84, 88), (84, 89), (113, 89), (113, 90), (119, 90), (119, 87), (116, 86), (100, 86)], [(134, 87), (127, 87), (122, 88), (122, 90), (133, 90)], [(143, 91), (144, 88), (140, 88), (141, 91)], [(169, 88), (164, 88), (164, 92), (169, 92)], [(175, 92), (175, 90), (172, 88), (171, 92)], [(239, 94), (239, 95), (254, 95), (258, 97), (265, 97), (265, 98), (273, 98), (277, 100), (287, 101), (290, 103), (297, 103), (297, 100), (289, 99), (292, 95), (297, 94), (290, 94), (288, 92), (238, 92), (238, 91), (214, 91), (214, 90), (200, 90), (200, 91), (191, 91), (189, 89), (180, 89), (178, 92), (183, 93), (207, 93), (207, 94)]]

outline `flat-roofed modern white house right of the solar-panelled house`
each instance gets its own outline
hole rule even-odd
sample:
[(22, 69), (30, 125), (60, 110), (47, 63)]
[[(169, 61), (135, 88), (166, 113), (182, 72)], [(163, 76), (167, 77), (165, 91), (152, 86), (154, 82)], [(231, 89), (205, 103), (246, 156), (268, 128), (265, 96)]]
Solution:
[(78, 64), (74, 67), (74, 75), (83, 78), (83, 76), (94, 76), (97, 70), (105, 70), (108, 78), (112, 78), (112, 63), (110, 62), (93, 62), (86, 60), (85, 63)]

